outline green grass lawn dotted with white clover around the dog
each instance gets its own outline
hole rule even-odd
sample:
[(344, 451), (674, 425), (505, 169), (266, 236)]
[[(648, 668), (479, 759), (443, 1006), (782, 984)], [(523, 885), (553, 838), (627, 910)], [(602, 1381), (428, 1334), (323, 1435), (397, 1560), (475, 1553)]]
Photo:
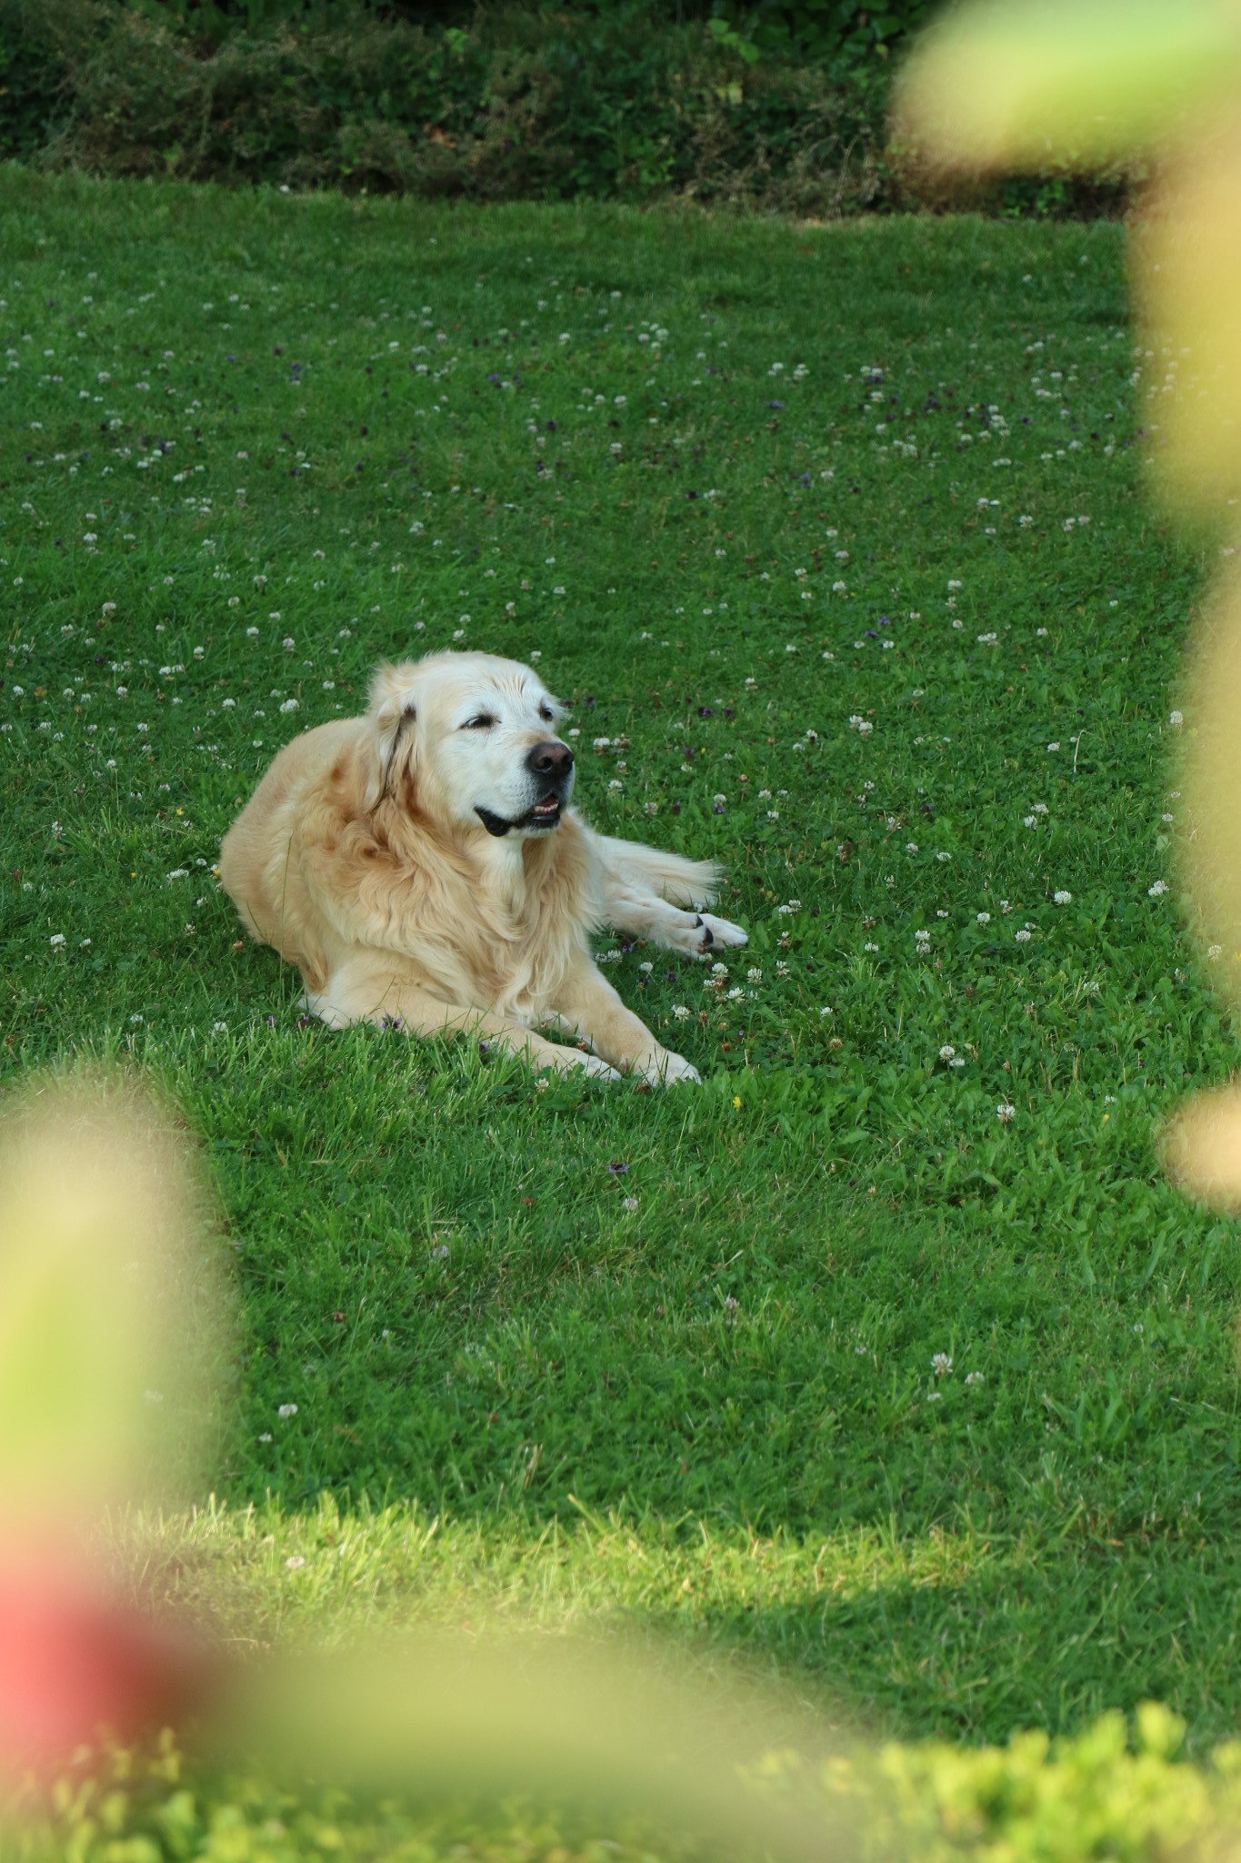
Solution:
[[(156, 1589), (636, 1621), (901, 1738), (1232, 1733), (1237, 1239), (1155, 1161), (1237, 1060), (1163, 889), (1206, 555), (1122, 231), (0, 207), (6, 1086), (166, 1082), (242, 1295)], [(597, 827), (727, 864), (726, 976), (601, 941), (701, 1090), (327, 1034), (240, 943), (274, 751), (454, 643), (540, 656)]]

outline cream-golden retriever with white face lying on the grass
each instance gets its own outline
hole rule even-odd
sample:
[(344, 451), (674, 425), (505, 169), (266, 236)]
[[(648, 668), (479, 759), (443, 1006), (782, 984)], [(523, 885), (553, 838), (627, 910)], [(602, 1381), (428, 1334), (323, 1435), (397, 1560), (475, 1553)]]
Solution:
[(595, 835), (569, 809), (560, 715), (514, 660), (383, 665), (365, 717), (285, 745), (225, 835), (220, 877), (329, 1028), (471, 1030), (534, 1067), (698, 1081), (599, 974), (590, 935), (700, 956), (746, 933), (701, 911), (711, 863)]

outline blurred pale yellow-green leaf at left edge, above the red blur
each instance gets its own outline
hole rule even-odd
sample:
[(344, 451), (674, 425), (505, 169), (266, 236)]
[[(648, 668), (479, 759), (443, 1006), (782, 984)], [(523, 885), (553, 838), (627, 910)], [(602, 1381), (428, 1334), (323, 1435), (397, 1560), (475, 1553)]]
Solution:
[[(225, 1299), (184, 1140), (125, 1082), (0, 1125), (0, 1492), (13, 1533), (151, 1492), (201, 1448)], [(188, 1470), (186, 1470), (188, 1472)]]

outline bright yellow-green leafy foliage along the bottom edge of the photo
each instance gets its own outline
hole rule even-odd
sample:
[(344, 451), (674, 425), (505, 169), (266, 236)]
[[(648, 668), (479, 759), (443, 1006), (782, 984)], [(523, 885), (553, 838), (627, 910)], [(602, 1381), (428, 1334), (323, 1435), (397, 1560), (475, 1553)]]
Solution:
[[(886, 1746), (830, 1762), (822, 1781), (824, 1833), (841, 1800), (861, 1809), (865, 1863), (886, 1856), (921, 1863), (1163, 1863), (1187, 1852), (1228, 1850), (1241, 1826), (1241, 1742), (1206, 1766), (1178, 1759), (1183, 1727), (1146, 1705), (1131, 1723), (1107, 1714), (1074, 1738), (1016, 1734), (1003, 1747)], [(776, 1755), (755, 1790), (796, 1779), (794, 1755)], [(112, 1749), (102, 1766), (82, 1757), (41, 1805), (28, 1803), (4, 1854), (22, 1863), (298, 1863), (305, 1857), (460, 1863), (655, 1863), (698, 1857), (688, 1835), (638, 1818), (590, 1818), (532, 1803), (411, 1805), (309, 1783), (195, 1775), (173, 1738), (147, 1753)]]

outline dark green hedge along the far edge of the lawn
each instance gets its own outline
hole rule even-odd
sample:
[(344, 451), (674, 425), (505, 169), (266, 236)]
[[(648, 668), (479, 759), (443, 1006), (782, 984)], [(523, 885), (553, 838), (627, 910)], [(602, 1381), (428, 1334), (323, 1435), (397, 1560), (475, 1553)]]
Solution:
[[(214, 39), (188, 4), (0, 0), (0, 156), (474, 201), (912, 207), (886, 140), (887, 48), (921, 9), (908, 0), (867, 26), (822, 9), (822, 56), (802, 58), (783, 17), (796, 7), (677, 24), (647, 0), (614, 0), (428, 26), (339, 0)], [(1051, 177), (988, 199), (1096, 212), (1120, 190)]]

